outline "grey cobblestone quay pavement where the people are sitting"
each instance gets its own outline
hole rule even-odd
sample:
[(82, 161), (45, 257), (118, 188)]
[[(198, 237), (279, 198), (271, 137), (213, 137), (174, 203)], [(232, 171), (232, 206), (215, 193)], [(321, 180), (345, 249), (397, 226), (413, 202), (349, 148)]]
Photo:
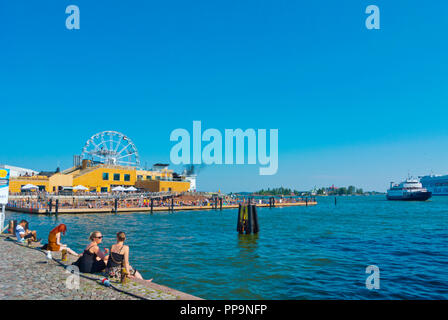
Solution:
[[(126, 284), (111, 281), (112, 287), (101, 284), (104, 276), (80, 273), (79, 277), (66, 270), (60, 252), (46, 251), (34, 243), (21, 245), (7, 235), (0, 236), (0, 300), (198, 300), (200, 298), (146, 281), (129, 280)], [(70, 255), (69, 255), (70, 256)], [(65, 265), (58, 263), (61, 262)], [(89, 277), (92, 279), (86, 279)], [(79, 280), (79, 281), (78, 281)], [(79, 283), (79, 285), (77, 285)]]

